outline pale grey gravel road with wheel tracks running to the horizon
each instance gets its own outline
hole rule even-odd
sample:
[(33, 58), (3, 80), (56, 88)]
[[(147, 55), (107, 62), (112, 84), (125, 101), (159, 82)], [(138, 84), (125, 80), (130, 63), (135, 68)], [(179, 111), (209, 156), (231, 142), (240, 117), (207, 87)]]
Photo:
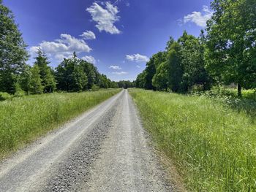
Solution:
[(0, 191), (173, 191), (127, 90), (0, 164)]

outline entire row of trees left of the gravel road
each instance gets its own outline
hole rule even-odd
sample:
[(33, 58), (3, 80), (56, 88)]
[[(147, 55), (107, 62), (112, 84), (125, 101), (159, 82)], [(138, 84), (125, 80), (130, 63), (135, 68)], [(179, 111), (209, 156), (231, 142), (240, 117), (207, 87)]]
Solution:
[[(77, 57), (64, 60), (53, 69), (42, 50), (33, 66), (26, 64), (29, 54), (13, 13), (0, 0), (0, 92), (11, 94), (52, 93), (118, 88), (118, 82), (100, 74), (97, 67)], [(127, 84), (119, 83), (120, 87)]]

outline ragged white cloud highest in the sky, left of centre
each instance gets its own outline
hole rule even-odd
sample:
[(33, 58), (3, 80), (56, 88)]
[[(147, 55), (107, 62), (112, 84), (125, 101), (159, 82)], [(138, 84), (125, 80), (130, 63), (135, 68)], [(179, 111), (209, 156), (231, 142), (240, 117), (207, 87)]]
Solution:
[[(103, 5), (102, 5), (103, 6)], [(114, 23), (119, 20), (118, 7), (114, 6), (110, 2), (105, 3), (105, 8), (103, 8), (97, 2), (94, 2), (91, 7), (87, 8), (91, 14), (92, 20), (94, 20), (97, 25), (96, 27), (99, 31), (106, 31), (110, 34), (120, 34), (121, 31), (114, 26)]]

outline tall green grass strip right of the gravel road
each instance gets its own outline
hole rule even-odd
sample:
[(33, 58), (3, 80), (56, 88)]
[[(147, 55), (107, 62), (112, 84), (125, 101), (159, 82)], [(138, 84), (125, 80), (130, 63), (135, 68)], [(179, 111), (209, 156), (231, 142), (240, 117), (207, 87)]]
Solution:
[(189, 191), (256, 191), (256, 124), (222, 100), (129, 89)]

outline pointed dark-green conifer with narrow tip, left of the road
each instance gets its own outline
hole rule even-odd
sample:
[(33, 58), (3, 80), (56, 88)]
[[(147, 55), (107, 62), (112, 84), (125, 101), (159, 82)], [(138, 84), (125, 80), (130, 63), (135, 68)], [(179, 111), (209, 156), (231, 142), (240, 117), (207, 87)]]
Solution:
[(37, 51), (37, 57), (34, 64), (39, 66), (39, 74), (42, 79), (42, 87), (44, 88), (45, 93), (51, 93), (56, 88), (56, 80), (53, 75), (53, 71), (50, 69), (50, 62), (48, 61), (47, 56), (42, 50)]

